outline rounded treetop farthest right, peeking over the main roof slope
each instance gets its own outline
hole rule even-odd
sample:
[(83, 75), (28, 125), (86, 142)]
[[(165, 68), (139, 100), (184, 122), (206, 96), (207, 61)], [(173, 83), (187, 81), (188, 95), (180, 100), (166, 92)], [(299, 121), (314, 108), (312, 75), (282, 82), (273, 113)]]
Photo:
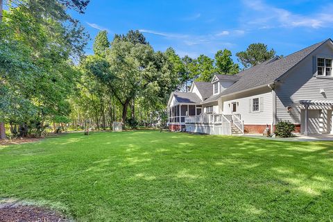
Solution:
[(241, 62), (245, 68), (258, 65), (266, 60), (273, 58), (275, 55), (275, 50), (271, 49), (268, 51), (267, 45), (263, 43), (250, 44), (246, 51), (240, 51), (236, 53), (239, 62)]

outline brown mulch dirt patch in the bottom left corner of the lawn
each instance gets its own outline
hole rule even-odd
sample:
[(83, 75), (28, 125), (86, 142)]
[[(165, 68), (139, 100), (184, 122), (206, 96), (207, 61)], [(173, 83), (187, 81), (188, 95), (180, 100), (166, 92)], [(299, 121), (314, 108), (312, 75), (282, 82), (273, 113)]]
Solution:
[(60, 212), (35, 205), (7, 202), (0, 205), (1, 222), (69, 222)]

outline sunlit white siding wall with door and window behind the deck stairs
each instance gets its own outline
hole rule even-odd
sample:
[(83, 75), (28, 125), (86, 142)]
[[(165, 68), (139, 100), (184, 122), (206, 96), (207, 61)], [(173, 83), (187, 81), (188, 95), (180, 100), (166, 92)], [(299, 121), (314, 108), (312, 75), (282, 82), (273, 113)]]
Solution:
[[(252, 99), (262, 99), (262, 110), (260, 112), (250, 112)], [(273, 97), (271, 89), (257, 89), (253, 92), (242, 93), (237, 96), (223, 98), (223, 114), (231, 114), (232, 103), (238, 103), (236, 114), (241, 115), (246, 125), (266, 125), (271, 126), (273, 122)], [(250, 104), (251, 103), (251, 104)], [(230, 104), (230, 106), (229, 106)]]

